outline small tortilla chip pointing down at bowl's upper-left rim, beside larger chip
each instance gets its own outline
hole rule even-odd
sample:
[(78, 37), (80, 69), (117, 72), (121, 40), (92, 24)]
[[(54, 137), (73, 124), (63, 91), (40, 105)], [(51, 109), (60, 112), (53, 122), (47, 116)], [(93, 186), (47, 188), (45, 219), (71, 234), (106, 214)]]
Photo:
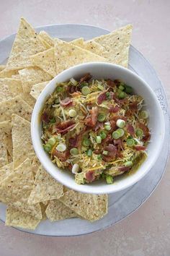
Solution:
[(52, 77), (56, 75), (54, 48), (42, 51), (30, 57), (32, 66), (37, 66), (50, 74)]

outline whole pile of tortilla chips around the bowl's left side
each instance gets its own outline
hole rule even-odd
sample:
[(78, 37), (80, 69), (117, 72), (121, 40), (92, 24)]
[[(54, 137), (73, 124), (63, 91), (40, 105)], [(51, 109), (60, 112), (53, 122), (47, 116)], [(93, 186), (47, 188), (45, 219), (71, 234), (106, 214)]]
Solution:
[(107, 214), (107, 195), (63, 187), (40, 165), (32, 147), (30, 120), (38, 95), (64, 69), (91, 61), (128, 66), (132, 26), (69, 43), (39, 34), (23, 18), (5, 66), (0, 66), (0, 201), (6, 225), (35, 229), (48, 218), (97, 221)]

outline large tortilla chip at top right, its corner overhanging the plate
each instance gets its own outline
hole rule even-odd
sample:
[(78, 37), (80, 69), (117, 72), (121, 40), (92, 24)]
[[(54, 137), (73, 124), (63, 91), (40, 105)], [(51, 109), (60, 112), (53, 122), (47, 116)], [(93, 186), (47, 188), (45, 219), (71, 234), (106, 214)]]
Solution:
[(94, 38), (92, 41), (104, 47), (102, 56), (106, 58), (107, 61), (128, 67), (128, 53), (132, 28), (132, 25), (120, 27), (118, 30), (114, 30), (107, 35), (101, 35)]

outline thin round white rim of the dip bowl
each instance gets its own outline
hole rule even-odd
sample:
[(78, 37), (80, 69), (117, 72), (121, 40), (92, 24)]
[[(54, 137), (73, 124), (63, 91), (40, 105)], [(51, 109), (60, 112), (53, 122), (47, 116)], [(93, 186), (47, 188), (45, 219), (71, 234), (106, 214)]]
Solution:
[[(154, 98), (154, 102), (156, 102), (157, 108), (159, 109), (159, 115), (161, 116), (161, 132), (162, 132), (162, 136), (161, 136), (161, 142), (159, 143), (159, 148), (158, 150), (156, 150), (155, 155), (152, 155), (151, 161), (148, 164), (148, 167), (146, 168), (146, 171), (144, 171), (143, 173), (141, 173), (140, 175), (135, 177), (135, 180), (132, 180), (131, 182), (129, 182), (128, 184), (124, 184), (122, 187), (117, 188), (114, 187), (113, 184), (106, 184), (104, 185), (105, 189), (102, 189), (102, 191), (99, 191), (99, 189), (92, 189), (91, 191), (91, 187), (93, 187), (91, 184), (76, 184), (75, 182), (75, 187), (72, 186), (71, 184), (68, 184), (68, 182), (66, 182), (65, 179), (61, 179), (60, 177), (58, 177), (58, 173), (56, 171), (56, 173), (53, 173), (53, 170), (51, 170), (50, 168), (48, 168), (48, 165), (46, 163), (47, 158), (49, 159), (48, 155), (45, 153), (44, 151), (44, 155), (40, 154), (40, 150), (38, 149), (37, 146), (37, 136), (40, 137), (39, 132), (37, 131), (37, 129), (35, 129), (35, 127), (38, 128), (37, 125), (37, 119), (40, 119), (40, 111), (42, 110), (42, 105), (40, 105), (40, 101), (43, 101), (43, 103), (45, 103), (46, 99), (49, 97), (49, 88), (50, 85), (53, 85), (53, 82), (55, 80), (58, 79), (58, 77), (63, 76), (64, 74), (66, 74), (67, 72), (70, 72), (74, 69), (79, 69), (81, 67), (87, 67), (90, 65), (98, 65), (98, 66), (103, 66), (105, 68), (107, 67), (113, 67), (115, 69), (122, 69), (124, 72), (126, 72), (127, 74), (129, 73), (130, 75), (132, 75), (133, 77), (135, 77), (136, 79), (140, 80), (140, 82), (143, 83), (143, 85), (145, 85), (145, 87), (149, 90), (149, 92), (151, 93), (151, 95)], [(76, 75), (75, 75), (76, 76)], [(134, 184), (136, 184), (137, 182), (139, 182), (140, 179), (142, 179), (144, 176), (146, 176), (146, 174), (148, 174), (148, 171), (151, 170), (151, 168), (153, 167), (154, 163), (156, 162), (159, 153), (161, 152), (161, 148), (163, 147), (163, 142), (164, 142), (164, 135), (165, 135), (165, 121), (164, 121), (164, 114), (161, 108), (160, 103), (158, 102), (158, 99), (156, 98), (156, 94), (153, 92), (153, 90), (151, 89), (151, 87), (148, 85), (148, 83), (145, 82), (145, 80), (143, 80), (141, 77), (138, 76), (138, 74), (135, 74), (134, 72), (132, 72), (130, 69), (127, 69), (125, 67), (122, 67), (120, 65), (117, 64), (111, 64), (111, 63), (107, 63), (107, 62), (100, 62), (100, 61), (96, 61), (96, 62), (88, 62), (88, 63), (84, 63), (84, 64), (79, 64), (73, 67), (70, 67), (69, 69), (63, 70), (63, 72), (57, 74), (53, 80), (50, 80), (50, 82), (48, 83), (48, 85), (46, 85), (45, 89), (42, 90), (42, 93), (40, 93), (39, 97), (37, 98), (37, 101), (35, 103), (34, 109), (32, 111), (32, 119), (31, 119), (31, 137), (32, 137), (32, 145), (33, 148), (35, 150), (35, 153), (37, 155), (37, 158), (39, 159), (40, 163), (42, 164), (42, 166), (45, 168), (45, 171), (48, 171), (48, 173), (53, 176), (53, 178), (60, 182), (61, 184), (65, 185), (66, 187), (69, 187), (70, 189), (74, 189), (78, 192), (83, 192), (83, 193), (91, 193), (91, 194), (109, 194), (109, 193), (113, 193), (113, 192), (119, 192), (122, 191), (124, 189), (127, 189), (128, 187), (132, 187)], [(45, 159), (46, 158), (46, 159)], [(52, 161), (51, 161), (52, 163)], [(58, 166), (55, 166), (56, 170), (58, 169)], [(89, 187), (89, 189), (88, 189)]]

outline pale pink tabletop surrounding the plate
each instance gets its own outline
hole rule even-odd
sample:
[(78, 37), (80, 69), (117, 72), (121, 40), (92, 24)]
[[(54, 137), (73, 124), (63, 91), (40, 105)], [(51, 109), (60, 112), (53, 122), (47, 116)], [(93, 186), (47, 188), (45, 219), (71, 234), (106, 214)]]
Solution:
[[(0, 9), (0, 38), (15, 33), (22, 16), (34, 26), (81, 23), (113, 30), (132, 23), (133, 46), (151, 61), (170, 98), (169, 0), (0, 0)], [(105, 231), (55, 238), (24, 234), (0, 223), (0, 255), (169, 256), (169, 171), (170, 163), (148, 201)]]

